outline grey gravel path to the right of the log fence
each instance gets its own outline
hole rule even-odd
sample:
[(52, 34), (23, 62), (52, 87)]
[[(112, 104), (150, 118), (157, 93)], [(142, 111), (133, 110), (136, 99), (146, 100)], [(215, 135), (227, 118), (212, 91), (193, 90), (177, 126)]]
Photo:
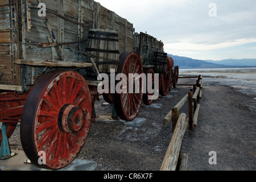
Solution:
[[(255, 170), (256, 101), (223, 86), (204, 86), (198, 127), (184, 136), (189, 170)], [(209, 165), (210, 151), (217, 165)]]

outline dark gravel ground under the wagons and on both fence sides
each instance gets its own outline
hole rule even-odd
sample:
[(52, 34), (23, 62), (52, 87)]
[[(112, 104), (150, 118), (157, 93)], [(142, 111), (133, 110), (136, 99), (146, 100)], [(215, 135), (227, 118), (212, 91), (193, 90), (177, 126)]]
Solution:
[[(181, 151), (188, 154), (188, 170), (255, 170), (256, 94), (245, 94), (240, 88), (224, 85), (220, 79), (203, 76), (197, 128), (186, 131), (181, 146)], [(179, 83), (194, 81), (180, 79)], [(159, 97), (154, 101), (162, 107), (142, 106), (138, 117), (146, 118), (146, 122), (141, 127), (92, 123), (77, 158), (96, 161), (97, 171), (158, 171), (172, 137), (172, 126), (163, 126), (162, 119), (189, 92), (189, 87), (178, 86), (173, 90), (169, 93), (171, 98)], [(96, 113), (111, 115), (112, 106), (101, 106), (103, 103), (103, 98), (96, 101)], [(188, 114), (187, 110), (186, 103), (180, 113)], [(19, 125), (9, 142), (12, 149), (22, 150)], [(216, 151), (216, 165), (208, 163), (210, 151)]]

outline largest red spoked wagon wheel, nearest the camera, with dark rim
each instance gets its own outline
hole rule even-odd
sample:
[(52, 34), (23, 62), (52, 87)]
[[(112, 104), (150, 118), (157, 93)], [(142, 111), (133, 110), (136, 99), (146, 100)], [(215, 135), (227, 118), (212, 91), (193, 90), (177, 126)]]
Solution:
[[(31, 90), (23, 108), (20, 139), (27, 157), (44, 168), (67, 166), (85, 142), (91, 115), (84, 77), (74, 71), (47, 73)], [(39, 159), (42, 151), (46, 155), (43, 164)]]

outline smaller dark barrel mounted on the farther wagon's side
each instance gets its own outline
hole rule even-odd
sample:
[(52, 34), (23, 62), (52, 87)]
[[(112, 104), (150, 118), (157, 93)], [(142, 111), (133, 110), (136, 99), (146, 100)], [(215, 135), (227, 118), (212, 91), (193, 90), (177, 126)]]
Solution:
[(158, 73), (166, 72), (166, 64), (167, 64), (167, 53), (164, 52), (154, 52), (153, 57), (153, 65), (155, 65)]

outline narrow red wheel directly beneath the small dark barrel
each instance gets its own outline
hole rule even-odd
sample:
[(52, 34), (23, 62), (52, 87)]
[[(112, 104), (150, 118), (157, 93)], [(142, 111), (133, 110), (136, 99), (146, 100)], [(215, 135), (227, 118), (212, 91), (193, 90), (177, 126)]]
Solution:
[(171, 64), (170, 61), (166, 62), (166, 72), (160, 74), (160, 84), (161, 89), (159, 90), (159, 93), (161, 96), (167, 96), (168, 92), (170, 91), (170, 82), (171, 82)]

